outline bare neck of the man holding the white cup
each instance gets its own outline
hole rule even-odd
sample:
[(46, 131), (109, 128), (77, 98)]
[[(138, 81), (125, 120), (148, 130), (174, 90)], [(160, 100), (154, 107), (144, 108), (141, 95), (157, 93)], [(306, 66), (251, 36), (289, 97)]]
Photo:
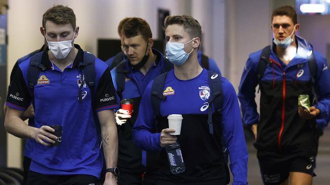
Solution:
[(174, 65), (174, 74), (180, 80), (189, 80), (200, 75), (203, 68), (198, 63), (197, 53), (190, 55), (181, 66)]

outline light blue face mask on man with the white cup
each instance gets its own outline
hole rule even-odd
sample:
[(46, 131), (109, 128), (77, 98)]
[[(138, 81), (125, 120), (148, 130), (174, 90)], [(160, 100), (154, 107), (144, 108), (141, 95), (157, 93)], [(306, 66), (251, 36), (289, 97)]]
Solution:
[(184, 51), (184, 44), (191, 42), (193, 39), (195, 38), (192, 38), (186, 43), (168, 42), (166, 44), (166, 55), (172, 64), (181, 66), (182, 64), (184, 64), (184, 62), (186, 62), (194, 48), (191, 50), (190, 53), (186, 53)]

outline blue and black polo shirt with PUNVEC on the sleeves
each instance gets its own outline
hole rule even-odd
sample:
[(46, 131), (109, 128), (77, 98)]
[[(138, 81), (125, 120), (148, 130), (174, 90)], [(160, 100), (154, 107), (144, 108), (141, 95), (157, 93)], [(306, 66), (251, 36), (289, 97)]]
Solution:
[[(32, 101), (35, 127), (61, 125), (63, 128), (60, 146), (46, 147), (33, 141), (31, 171), (47, 175), (100, 177), (103, 161), (93, 111), (117, 108), (116, 93), (108, 66), (97, 58), (94, 92), (91, 92), (78, 69), (84, 52), (79, 45), (75, 44), (75, 47), (79, 50), (78, 55), (63, 71), (49, 61), (47, 51), (43, 53), (42, 64), (46, 70), (39, 74), (34, 101), (27, 86), (30, 58), (14, 68), (6, 105), (24, 111)], [(78, 100), (80, 85), (83, 85), (82, 102)]]

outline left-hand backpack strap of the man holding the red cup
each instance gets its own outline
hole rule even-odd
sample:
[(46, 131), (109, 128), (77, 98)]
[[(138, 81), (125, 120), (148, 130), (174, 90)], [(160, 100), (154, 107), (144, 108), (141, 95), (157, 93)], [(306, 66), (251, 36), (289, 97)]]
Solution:
[(122, 92), (125, 89), (125, 76), (129, 73), (126, 69), (126, 60), (121, 61), (116, 67), (117, 95), (122, 99)]

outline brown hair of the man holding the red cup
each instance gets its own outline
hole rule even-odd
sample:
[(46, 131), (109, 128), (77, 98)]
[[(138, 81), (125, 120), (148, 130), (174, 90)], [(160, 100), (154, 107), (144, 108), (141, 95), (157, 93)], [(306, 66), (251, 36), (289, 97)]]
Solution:
[(149, 24), (139, 17), (129, 18), (122, 26), (121, 33), (127, 38), (141, 35), (147, 42), (152, 38)]

